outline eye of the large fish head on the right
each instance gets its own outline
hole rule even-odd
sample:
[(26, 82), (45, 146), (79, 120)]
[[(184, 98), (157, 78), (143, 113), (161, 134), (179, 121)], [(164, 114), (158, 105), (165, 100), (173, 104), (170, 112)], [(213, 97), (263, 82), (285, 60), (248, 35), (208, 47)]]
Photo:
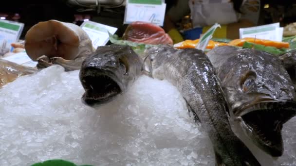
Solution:
[(240, 80), (241, 90), (248, 92), (255, 85), (256, 73), (254, 71), (248, 71)]

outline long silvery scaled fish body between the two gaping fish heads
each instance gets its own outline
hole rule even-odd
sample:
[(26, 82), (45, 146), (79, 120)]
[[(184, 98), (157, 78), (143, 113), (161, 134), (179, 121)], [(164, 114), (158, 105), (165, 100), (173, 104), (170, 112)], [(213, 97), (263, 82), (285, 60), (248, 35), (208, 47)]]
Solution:
[(167, 80), (180, 91), (212, 142), (216, 166), (260, 166), (232, 131), (222, 89), (202, 50), (175, 50), (164, 45), (148, 48), (143, 57), (153, 78)]

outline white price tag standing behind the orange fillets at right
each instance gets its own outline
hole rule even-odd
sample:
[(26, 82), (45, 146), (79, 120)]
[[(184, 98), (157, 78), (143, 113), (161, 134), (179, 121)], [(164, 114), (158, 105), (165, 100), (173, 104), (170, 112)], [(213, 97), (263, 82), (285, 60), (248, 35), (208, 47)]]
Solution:
[(279, 23), (250, 28), (240, 28), (240, 38), (256, 37), (258, 39), (282, 41), (282, 36), (283, 28), (279, 27)]

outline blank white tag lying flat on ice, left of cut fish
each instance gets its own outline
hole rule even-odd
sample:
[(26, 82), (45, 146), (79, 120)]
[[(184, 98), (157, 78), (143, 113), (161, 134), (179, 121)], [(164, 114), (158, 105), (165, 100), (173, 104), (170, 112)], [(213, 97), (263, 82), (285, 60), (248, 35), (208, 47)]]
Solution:
[(32, 59), (27, 55), (26, 52), (15, 53), (13, 55), (10, 55), (8, 57), (4, 57), (2, 59), (10, 61), (10, 62), (14, 62), (19, 65), (23, 65), (23, 66), (36, 67), (36, 65), (37, 65), (37, 62), (32, 61)]

